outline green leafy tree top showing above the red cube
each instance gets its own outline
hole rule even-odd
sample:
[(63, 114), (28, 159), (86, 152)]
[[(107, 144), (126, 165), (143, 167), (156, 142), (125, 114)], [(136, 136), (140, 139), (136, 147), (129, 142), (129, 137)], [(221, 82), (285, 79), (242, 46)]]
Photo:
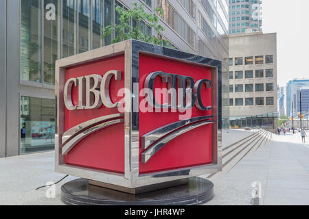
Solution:
[[(164, 28), (159, 25), (159, 16), (157, 14), (163, 14), (162, 8), (156, 8), (155, 13), (151, 14), (145, 12), (145, 5), (133, 3), (134, 8), (126, 10), (119, 6), (116, 7), (117, 16), (119, 20), (115, 25), (108, 25), (104, 27), (103, 38), (111, 36), (115, 31), (115, 38), (112, 43), (121, 42), (123, 40), (135, 39), (148, 43), (165, 45), (165, 47), (172, 48), (172, 45), (168, 40), (159, 39), (156, 36), (159, 36), (161, 31), (164, 31)], [(150, 27), (155, 29), (156, 36), (148, 36), (141, 31), (141, 23), (146, 21)], [(132, 25), (132, 22), (135, 25)]]

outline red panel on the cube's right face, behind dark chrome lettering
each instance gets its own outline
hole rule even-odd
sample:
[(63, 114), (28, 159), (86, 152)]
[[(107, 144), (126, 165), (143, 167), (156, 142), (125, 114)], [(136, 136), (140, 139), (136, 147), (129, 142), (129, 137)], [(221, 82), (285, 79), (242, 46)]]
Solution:
[[(199, 79), (211, 79), (211, 70), (205, 66), (194, 64), (185, 64), (171, 60), (163, 60), (162, 58), (139, 55), (139, 89), (144, 88), (146, 77), (155, 71), (163, 71), (176, 75), (186, 75), (193, 77), (194, 81)], [(158, 77), (155, 81), (155, 88), (165, 87)], [(211, 89), (202, 88), (202, 96), (204, 105), (211, 105)], [(141, 102), (143, 98), (139, 98)], [(201, 111), (196, 107), (192, 108), (192, 118), (197, 116), (210, 116), (211, 110)], [(141, 136), (164, 125), (179, 121), (181, 113), (139, 113), (139, 142)], [(212, 127), (213, 125), (205, 125), (189, 131), (178, 138), (175, 138), (166, 144), (159, 152), (157, 152), (146, 164), (139, 162), (140, 174), (149, 172), (158, 172), (162, 170), (171, 170), (175, 168), (183, 168), (188, 166), (199, 166), (202, 164), (210, 164), (212, 161)], [(141, 145), (139, 145), (139, 159), (141, 159)]]

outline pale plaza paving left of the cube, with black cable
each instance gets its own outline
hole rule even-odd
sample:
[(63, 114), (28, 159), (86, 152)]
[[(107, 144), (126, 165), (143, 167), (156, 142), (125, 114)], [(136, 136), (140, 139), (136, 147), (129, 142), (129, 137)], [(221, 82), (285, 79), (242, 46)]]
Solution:
[(35, 190), (65, 175), (54, 172), (54, 152), (0, 159), (0, 205), (62, 205), (60, 187), (76, 177), (67, 177), (56, 185), (56, 198), (47, 198), (47, 188)]

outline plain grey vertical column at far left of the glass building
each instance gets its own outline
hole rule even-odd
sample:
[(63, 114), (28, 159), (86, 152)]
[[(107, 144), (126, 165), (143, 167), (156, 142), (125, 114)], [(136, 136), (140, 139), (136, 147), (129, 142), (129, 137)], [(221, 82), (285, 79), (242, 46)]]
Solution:
[[(3, 1), (3, 0), (2, 0)], [(6, 156), (19, 155), (19, 0), (6, 0)]]

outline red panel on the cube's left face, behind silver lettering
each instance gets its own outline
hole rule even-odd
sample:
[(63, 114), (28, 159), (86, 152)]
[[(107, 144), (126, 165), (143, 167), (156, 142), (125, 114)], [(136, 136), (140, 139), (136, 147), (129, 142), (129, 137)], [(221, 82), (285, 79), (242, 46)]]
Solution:
[[(113, 103), (122, 99), (117, 97), (119, 89), (124, 88), (124, 55), (68, 68), (65, 80), (86, 75), (104, 75), (108, 70), (121, 70), (122, 81), (111, 80), (110, 92)], [(78, 105), (78, 88), (72, 89), (72, 100)], [(104, 105), (98, 110), (65, 110), (65, 131), (93, 118), (119, 113)], [(113, 125), (91, 134), (79, 142), (68, 155), (65, 163), (98, 170), (124, 173), (124, 123)]]

